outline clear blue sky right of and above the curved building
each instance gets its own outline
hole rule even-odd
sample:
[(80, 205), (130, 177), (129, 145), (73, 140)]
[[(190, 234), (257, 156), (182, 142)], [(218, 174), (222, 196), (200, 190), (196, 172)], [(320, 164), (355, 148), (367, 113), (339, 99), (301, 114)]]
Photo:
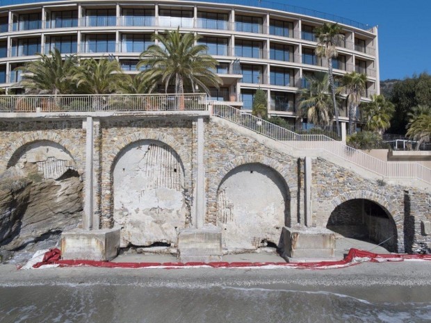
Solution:
[(323, 11), (379, 26), (380, 79), (431, 74), (430, 0), (286, 0), (275, 2)]

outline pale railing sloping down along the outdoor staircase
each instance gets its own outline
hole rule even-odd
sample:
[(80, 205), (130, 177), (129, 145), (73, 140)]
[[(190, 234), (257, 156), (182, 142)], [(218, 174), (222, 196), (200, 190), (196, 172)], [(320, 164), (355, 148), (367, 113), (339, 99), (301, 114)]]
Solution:
[(325, 151), (384, 178), (413, 178), (431, 183), (431, 169), (421, 164), (386, 162), (326, 135), (300, 135), (224, 103), (212, 102), (212, 104), (213, 115), (282, 142), (289, 147)]

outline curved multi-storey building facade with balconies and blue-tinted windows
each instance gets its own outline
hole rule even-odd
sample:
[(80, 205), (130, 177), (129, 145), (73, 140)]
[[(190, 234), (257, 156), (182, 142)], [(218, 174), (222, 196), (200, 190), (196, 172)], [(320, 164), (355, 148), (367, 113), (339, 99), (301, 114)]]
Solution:
[[(253, 94), (261, 88), (268, 94), (269, 114), (291, 122), (300, 88), (307, 86), (304, 76), (327, 71), (325, 59), (314, 54), (314, 28), (336, 20), (277, 6), (242, 6), (238, 0), (24, 2), (0, 2), (0, 87), (8, 93), (20, 91), (16, 67), (54, 47), (80, 58), (110, 56), (125, 72), (136, 74), (151, 35), (179, 27), (202, 35), (199, 42), (220, 62), (217, 73), (223, 85), (211, 90), (212, 99), (250, 110)], [(334, 73), (366, 74), (366, 101), (380, 92), (377, 28), (342, 22), (345, 42), (334, 60)], [(340, 115), (346, 122), (345, 107)]]

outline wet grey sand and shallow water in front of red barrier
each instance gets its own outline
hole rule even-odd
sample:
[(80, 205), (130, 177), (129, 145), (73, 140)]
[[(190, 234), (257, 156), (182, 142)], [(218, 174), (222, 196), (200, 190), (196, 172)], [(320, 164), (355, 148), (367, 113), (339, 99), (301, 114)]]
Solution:
[(431, 262), (336, 270), (16, 270), (0, 322), (431, 322)]

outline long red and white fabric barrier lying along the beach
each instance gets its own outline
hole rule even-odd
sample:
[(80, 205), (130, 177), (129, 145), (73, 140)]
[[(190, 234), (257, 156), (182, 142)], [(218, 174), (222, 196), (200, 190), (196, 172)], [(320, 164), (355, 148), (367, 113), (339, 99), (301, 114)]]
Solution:
[[(35, 255), (36, 256), (36, 255)], [(245, 267), (261, 267), (261, 268), (298, 268), (298, 269), (333, 269), (343, 268), (359, 263), (372, 262), (382, 263), (388, 261), (404, 261), (404, 260), (431, 260), (430, 254), (373, 254), (369, 251), (350, 249), (349, 253), (343, 260), (320, 261), (316, 263), (252, 263), (252, 262), (213, 262), (213, 263), (113, 263), (109, 261), (95, 260), (62, 260), (61, 251), (59, 249), (49, 249), (43, 254), (39, 254), (38, 258), (33, 258), (23, 268), (41, 268), (41, 267), (106, 267), (106, 268), (189, 268), (189, 267), (213, 267), (213, 268), (245, 268)]]

